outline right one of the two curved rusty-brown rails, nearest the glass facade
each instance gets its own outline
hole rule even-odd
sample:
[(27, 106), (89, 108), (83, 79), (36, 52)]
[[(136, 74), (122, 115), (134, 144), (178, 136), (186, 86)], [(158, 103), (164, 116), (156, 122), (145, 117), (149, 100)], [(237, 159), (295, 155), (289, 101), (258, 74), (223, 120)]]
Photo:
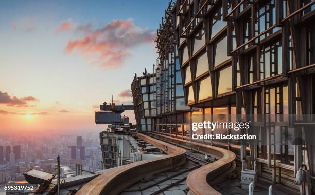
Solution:
[(169, 136), (150, 133), (156, 138), (160, 137), (165, 140), (170, 140), (174, 143), (188, 146), (197, 149), (198, 151), (207, 152), (219, 158), (218, 161), (202, 166), (188, 174), (187, 186), (189, 188), (188, 194), (203, 195), (203, 194), (220, 194), (211, 185), (217, 184), (226, 178), (226, 176), (235, 168), (235, 153), (223, 148), (199, 144), (196, 142), (185, 141), (177, 138), (170, 138)]

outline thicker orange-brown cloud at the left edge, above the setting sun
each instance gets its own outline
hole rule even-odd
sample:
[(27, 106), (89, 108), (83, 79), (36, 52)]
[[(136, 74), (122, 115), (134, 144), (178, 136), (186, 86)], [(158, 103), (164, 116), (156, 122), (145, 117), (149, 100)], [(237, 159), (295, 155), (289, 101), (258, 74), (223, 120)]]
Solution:
[(16, 96), (11, 97), (8, 93), (2, 93), (0, 91), (0, 104), (17, 107), (34, 107), (34, 105), (28, 105), (28, 102), (39, 102), (39, 100), (32, 96), (21, 98)]

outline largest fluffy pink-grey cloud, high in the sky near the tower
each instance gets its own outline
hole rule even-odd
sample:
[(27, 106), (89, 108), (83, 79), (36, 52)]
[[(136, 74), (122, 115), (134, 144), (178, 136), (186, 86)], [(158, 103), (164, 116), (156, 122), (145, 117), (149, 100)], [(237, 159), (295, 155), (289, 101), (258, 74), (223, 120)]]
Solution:
[(69, 40), (65, 51), (93, 59), (90, 64), (107, 68), (121, 67), (132, 48), (153, 43), (156, 36), (149, 29), (136, 26), (132, 19), (117, 19), (98, 29), (89, 23), (78, 26), (76, 31), (83, 36)]

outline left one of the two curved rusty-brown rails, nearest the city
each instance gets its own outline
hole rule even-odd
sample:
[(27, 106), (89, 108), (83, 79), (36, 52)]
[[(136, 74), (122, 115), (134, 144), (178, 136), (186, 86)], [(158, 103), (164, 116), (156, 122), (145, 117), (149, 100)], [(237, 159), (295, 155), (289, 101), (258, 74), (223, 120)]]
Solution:
[(99, 175), (84, 185), (76, 194), (119, 194), (144, 177), (185, 163), (183, 158), (183, 154), (186, 152), (185, 149), (141, 133), (136, 133), (136, 135), (138, 138), (163, 150), (167, 155), (109, 169), (106, 173)]

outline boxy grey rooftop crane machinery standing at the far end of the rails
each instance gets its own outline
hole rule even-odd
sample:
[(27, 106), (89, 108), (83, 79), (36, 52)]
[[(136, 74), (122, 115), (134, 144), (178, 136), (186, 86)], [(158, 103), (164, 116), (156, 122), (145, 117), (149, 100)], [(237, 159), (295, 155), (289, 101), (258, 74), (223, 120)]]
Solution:
[(110, 103), (109, 105), (107, 105), (107, 103), (104, 102), (103, 105), (100, 105), (100, 110), (102, 110), (103, 112), (95, 112), (95, 123), (109, 124), (107, 128), (109, 131), (117, 131), (121, 129), (123, 131), (128, 131), (130, 128), (129, 117), (121, 116), (121, 113), (125, 110), (133, 109), (133, 105), (130, 104), (116, 105), (115, 103)]

